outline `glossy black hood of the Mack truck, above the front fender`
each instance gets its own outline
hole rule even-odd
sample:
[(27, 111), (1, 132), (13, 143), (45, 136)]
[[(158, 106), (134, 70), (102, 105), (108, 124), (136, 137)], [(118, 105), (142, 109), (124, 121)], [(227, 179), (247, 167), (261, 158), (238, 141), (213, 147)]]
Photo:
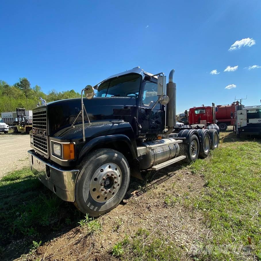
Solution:
[[(95, 97), (91, 100), (84, 98), (83, 102), (91, 122), (102, 120), (132, 122), (133, 117), (137, 117), (136, 99), (134, 97)], [(68, 130), (68, 127), (72, 125), (81, 110), (81, 99), (54, 101), (34, 110), (41, 108), (47, 108), (47, 133), (53, 136), (63, 128)], [(87, 123), (86, 113), (84, 113), (84, 119)], [(75, 125), (80, 123), (82, 123), (81, 114), (78, 116)]]

